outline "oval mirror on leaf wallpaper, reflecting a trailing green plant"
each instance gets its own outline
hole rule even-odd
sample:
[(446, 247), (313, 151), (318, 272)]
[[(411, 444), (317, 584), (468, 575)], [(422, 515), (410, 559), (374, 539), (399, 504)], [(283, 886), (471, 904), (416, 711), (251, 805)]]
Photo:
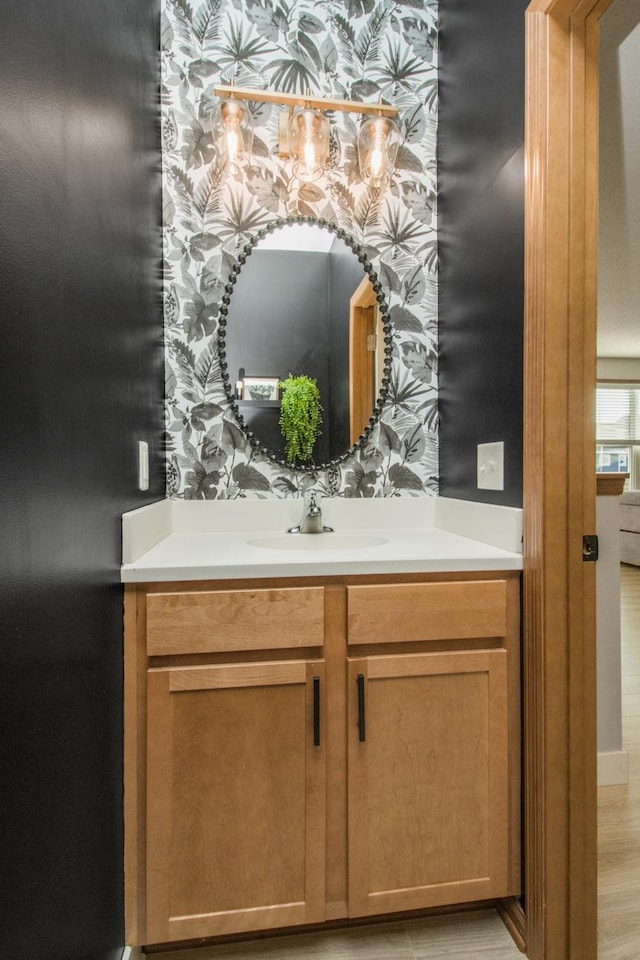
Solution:
[[(244, 247), (226, 287), (219, 343), (227, 395), (256, 447), (311, 469), (344, 459), (370, 433), (391, 368), (381, 284), (345, 231), (278, 220)], [(315, 381), (322, 424), (311, 456), (287, 456), (282, 381)]]

